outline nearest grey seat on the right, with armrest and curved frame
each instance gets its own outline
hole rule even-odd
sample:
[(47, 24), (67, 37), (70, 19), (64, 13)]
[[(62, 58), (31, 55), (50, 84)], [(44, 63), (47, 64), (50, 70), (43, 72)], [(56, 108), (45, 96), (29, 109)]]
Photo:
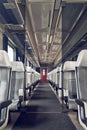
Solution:
[(82, 50), (76, 63), (76, 86), (78, 104), (78, 119), (87, 130), (87, 50)]

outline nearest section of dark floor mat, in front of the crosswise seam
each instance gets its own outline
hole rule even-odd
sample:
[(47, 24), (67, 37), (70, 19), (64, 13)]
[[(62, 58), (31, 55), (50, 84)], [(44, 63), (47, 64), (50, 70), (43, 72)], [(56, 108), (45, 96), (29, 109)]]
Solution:
[(76, 130), (66, 114), (22, 113), (13, 130)]

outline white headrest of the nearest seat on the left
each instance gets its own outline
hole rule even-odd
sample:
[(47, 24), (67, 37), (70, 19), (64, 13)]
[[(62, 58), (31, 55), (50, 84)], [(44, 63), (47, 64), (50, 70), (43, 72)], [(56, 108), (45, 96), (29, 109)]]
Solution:
[(8, 53), (4, 50), (0, 50), (0, 67), (11, 68), (11, 63), (10, 63)]

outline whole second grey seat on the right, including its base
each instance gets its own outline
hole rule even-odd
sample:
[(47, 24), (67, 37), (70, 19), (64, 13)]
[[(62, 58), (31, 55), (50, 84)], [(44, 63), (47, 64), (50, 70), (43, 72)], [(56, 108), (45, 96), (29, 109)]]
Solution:
[(66, 61), (63, 66), (63, 93), (69, 109), (77, 109), (75, 103), (75, 99), (77, 98), (75, 64), (75, 61)]

